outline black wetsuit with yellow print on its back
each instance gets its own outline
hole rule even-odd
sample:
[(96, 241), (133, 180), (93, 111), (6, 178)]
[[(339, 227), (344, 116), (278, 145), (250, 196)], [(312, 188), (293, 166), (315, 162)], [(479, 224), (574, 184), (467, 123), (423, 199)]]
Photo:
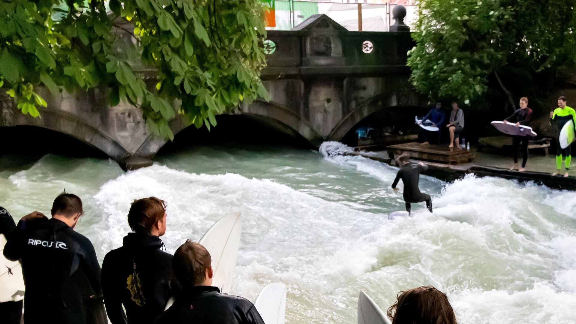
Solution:
[[(112, 324), (152, 323), (164, 312), (170, 296), (179, 291), (172, 272), (172, 254), (160, 250), (162, 245), (158, 236), (128, 233), (122, 247), (106, 254), (102, 288)], [(132, 278), (139, 285), (128, 285)]]

